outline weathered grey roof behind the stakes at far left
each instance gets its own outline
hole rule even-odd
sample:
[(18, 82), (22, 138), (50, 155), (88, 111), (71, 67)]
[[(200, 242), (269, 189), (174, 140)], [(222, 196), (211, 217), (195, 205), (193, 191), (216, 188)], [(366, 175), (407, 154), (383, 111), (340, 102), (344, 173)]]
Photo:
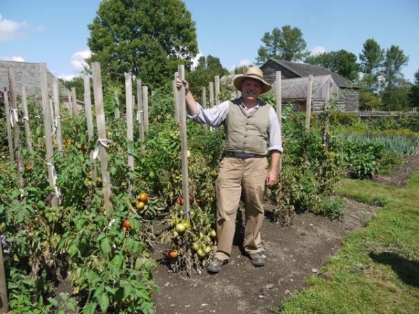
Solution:
[[(27, 95), (41, 94), (41, 73), (39, 69), (40, 63), (3, 61), (0, 60), (0, 89), (8, 86), (8, 68), (13, 69), (15, 78), (15, 95), (22, 95), (22, 85), (26, 87)], [(47, 70), (48, 91), (52, 94), (52, 82), (54, 75)], [(59, 82), (59, 94), (68, 96), (71, 94), (68, 89)]]

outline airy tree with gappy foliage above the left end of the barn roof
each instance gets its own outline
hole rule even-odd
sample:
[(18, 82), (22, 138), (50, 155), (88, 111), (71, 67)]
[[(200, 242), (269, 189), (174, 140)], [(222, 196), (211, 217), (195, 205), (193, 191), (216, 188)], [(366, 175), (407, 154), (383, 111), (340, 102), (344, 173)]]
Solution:
[(266, 32), (262, 42), (265, 46), (258, 49), (256, 64), (261, 65), (269, 59), (284, 61), (298, 61), (307, 57), (309, 52), (304, 51), (307, 43), (302, 38), (302, 32), (297, 27), (285, 25), (282, 29), (275, 27), (272, 33)]

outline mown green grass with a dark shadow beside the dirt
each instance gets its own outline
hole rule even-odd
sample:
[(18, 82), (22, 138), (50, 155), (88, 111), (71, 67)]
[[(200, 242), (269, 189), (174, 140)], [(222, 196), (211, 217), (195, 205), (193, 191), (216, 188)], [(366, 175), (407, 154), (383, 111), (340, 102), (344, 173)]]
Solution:
[(339, 194), (384, 207), (273, 312), (419, 313), (419, 171), (405, 188), (345, 179)]

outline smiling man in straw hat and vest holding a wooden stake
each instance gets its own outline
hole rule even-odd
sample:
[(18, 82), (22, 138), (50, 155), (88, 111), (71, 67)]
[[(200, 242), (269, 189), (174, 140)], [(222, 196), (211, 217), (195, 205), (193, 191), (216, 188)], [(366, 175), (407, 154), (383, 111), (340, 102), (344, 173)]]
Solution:
[(242, 97), (204, 110), (193, 98), (188, 82), (177, 79), (176, 83), (178, 89), (182, 84), (185, 87), (189, 117), (213, 127), (223, 124), (227, 135), (226, 156), (221, 160), (216, 179), (218, 244), (207, 270), (218, 273), (230, 259), (240, 199), (244, 202), (246, 217), (244, 251), (254, 266), (263, 266), (266, 260), (260, 239), (264, 218), (263, 194), (265, 184), (272, 186), (277, 180), (283, 150), (277, 114), (271, 105), (258, 99), (271, 86), (263, 80), (260, 68), (247, 68), (246, 73), (233, 82), (235, 88), (242, 91)]

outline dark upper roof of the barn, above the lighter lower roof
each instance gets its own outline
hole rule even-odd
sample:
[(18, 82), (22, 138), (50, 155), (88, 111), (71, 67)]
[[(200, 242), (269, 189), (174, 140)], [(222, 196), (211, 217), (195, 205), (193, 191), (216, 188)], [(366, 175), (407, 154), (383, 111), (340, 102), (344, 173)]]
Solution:
[(270, 59), (270, 60), (278, 63), (281, 66), (284, 66), (284, 68), (291, 70), (291, 72), (295, 73), (296, 75), (300, 77), (307, 77), (310, 74), (312, 74), (313, 77), (331, 75), (333, 80), (337, 84), (337, 86), (353, 87), (353, 83), (350, 80), (346, 80), (346, 78), (341, 77), (340, 75), (337, 75), (336, 73), (333, 73), (332, 71), (326, 68), (323, 68), (321, 66), (313, 66), (312, 64), (307, 64), (307, 63), (297, 63), (297, 62), (282, 61), (282, 60), (277, 60), (277, 59)]

